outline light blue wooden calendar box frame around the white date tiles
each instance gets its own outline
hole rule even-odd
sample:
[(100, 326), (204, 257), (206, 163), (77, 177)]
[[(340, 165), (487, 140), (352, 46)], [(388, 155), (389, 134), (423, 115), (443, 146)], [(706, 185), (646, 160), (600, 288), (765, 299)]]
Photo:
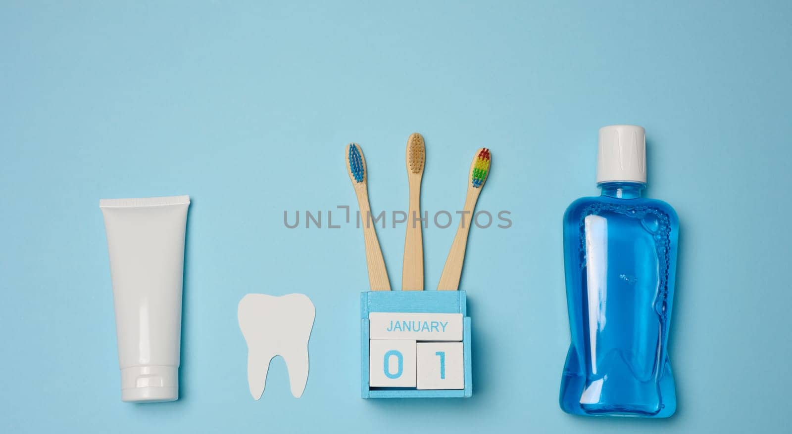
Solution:
[[(370, 291), (360, 294), (360, 366), (361, 396), (363, 398), (470, 398), (473, 394), (470, 357), (470, 317), (467, 316), (467, 298), (464, 291)], [(369, 385), (369, 339), (372, 313), (405, 314), (461, 314), (462, 343), (464, 350), (465, 388), (463, 390), (419, 391), (415, 387), (370, 387)], [(455, 316), (459, 315), (443, 315)], [(431, 324), (430, 324), (431, 323)], [(440, 336), (454, 334), (453, 325), (436, 321), (425, 323), (423, 333), (417, 340), (433, 342), (432, 332)], [(447, 326), (447, 329), (446, 329)], [(415, 330), (418, 332), (419, 330)], [(437, 338), (447, 340), (449, 338)], [(453, 339), (453, 338), (451, 338)], [(455, 339), (457, 342), (459, 338)]]

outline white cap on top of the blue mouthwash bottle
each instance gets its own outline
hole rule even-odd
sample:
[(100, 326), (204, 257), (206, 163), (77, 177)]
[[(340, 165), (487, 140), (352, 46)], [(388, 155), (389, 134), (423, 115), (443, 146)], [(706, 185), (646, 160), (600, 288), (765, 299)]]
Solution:
[(643, 126), (609, 125), (600, 128), (596, 182), (646, 183), (646, 132)]

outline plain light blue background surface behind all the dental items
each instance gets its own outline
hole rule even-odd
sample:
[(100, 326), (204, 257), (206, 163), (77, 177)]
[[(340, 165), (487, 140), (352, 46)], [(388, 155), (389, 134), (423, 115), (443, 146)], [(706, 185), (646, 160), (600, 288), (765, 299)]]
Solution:
[[(0, 431), (782, 432), (788, 413), (790, 2), (3, 2)], [(668, 420), (558, 408), (569, 326), (561, 217), (596, 194), (596, 134), (637, 123), (649, 195), (682, 221)], [(462, 286), (474, 397), (360, 399), (360, 229), (287, 229), (352, 205), (404, 209), (425, 134), (423, 206), (462, 206), (493, 152)], [(99, 198), (190, 194), (181, 399), (120, 402)], [(335, 217), (335, 216), (334, 216)], [(425, 231), (426, 285), (454, 229)], [(379, 230), (399, 288), (404, 228)], [(317, 308), (310, 378), (282, 360), (261, 401), (237, 326), (247, 292)]]

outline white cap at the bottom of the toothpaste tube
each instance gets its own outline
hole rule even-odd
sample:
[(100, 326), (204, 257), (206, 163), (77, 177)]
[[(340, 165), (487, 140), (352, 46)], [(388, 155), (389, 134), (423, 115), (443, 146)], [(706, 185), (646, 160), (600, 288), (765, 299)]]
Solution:
[(121, 401), (166, 402), (178, 398), (178, 367), (132, 366), (121, 369)]

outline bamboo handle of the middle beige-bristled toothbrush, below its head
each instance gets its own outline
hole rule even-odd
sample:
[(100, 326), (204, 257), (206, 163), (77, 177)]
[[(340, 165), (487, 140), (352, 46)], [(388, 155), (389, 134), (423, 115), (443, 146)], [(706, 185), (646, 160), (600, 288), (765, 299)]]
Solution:
[(424, 236), (421, 219), (421, 177), (409, 178), (409, 211), (404, 238), (402, 291), (424, 290)]

